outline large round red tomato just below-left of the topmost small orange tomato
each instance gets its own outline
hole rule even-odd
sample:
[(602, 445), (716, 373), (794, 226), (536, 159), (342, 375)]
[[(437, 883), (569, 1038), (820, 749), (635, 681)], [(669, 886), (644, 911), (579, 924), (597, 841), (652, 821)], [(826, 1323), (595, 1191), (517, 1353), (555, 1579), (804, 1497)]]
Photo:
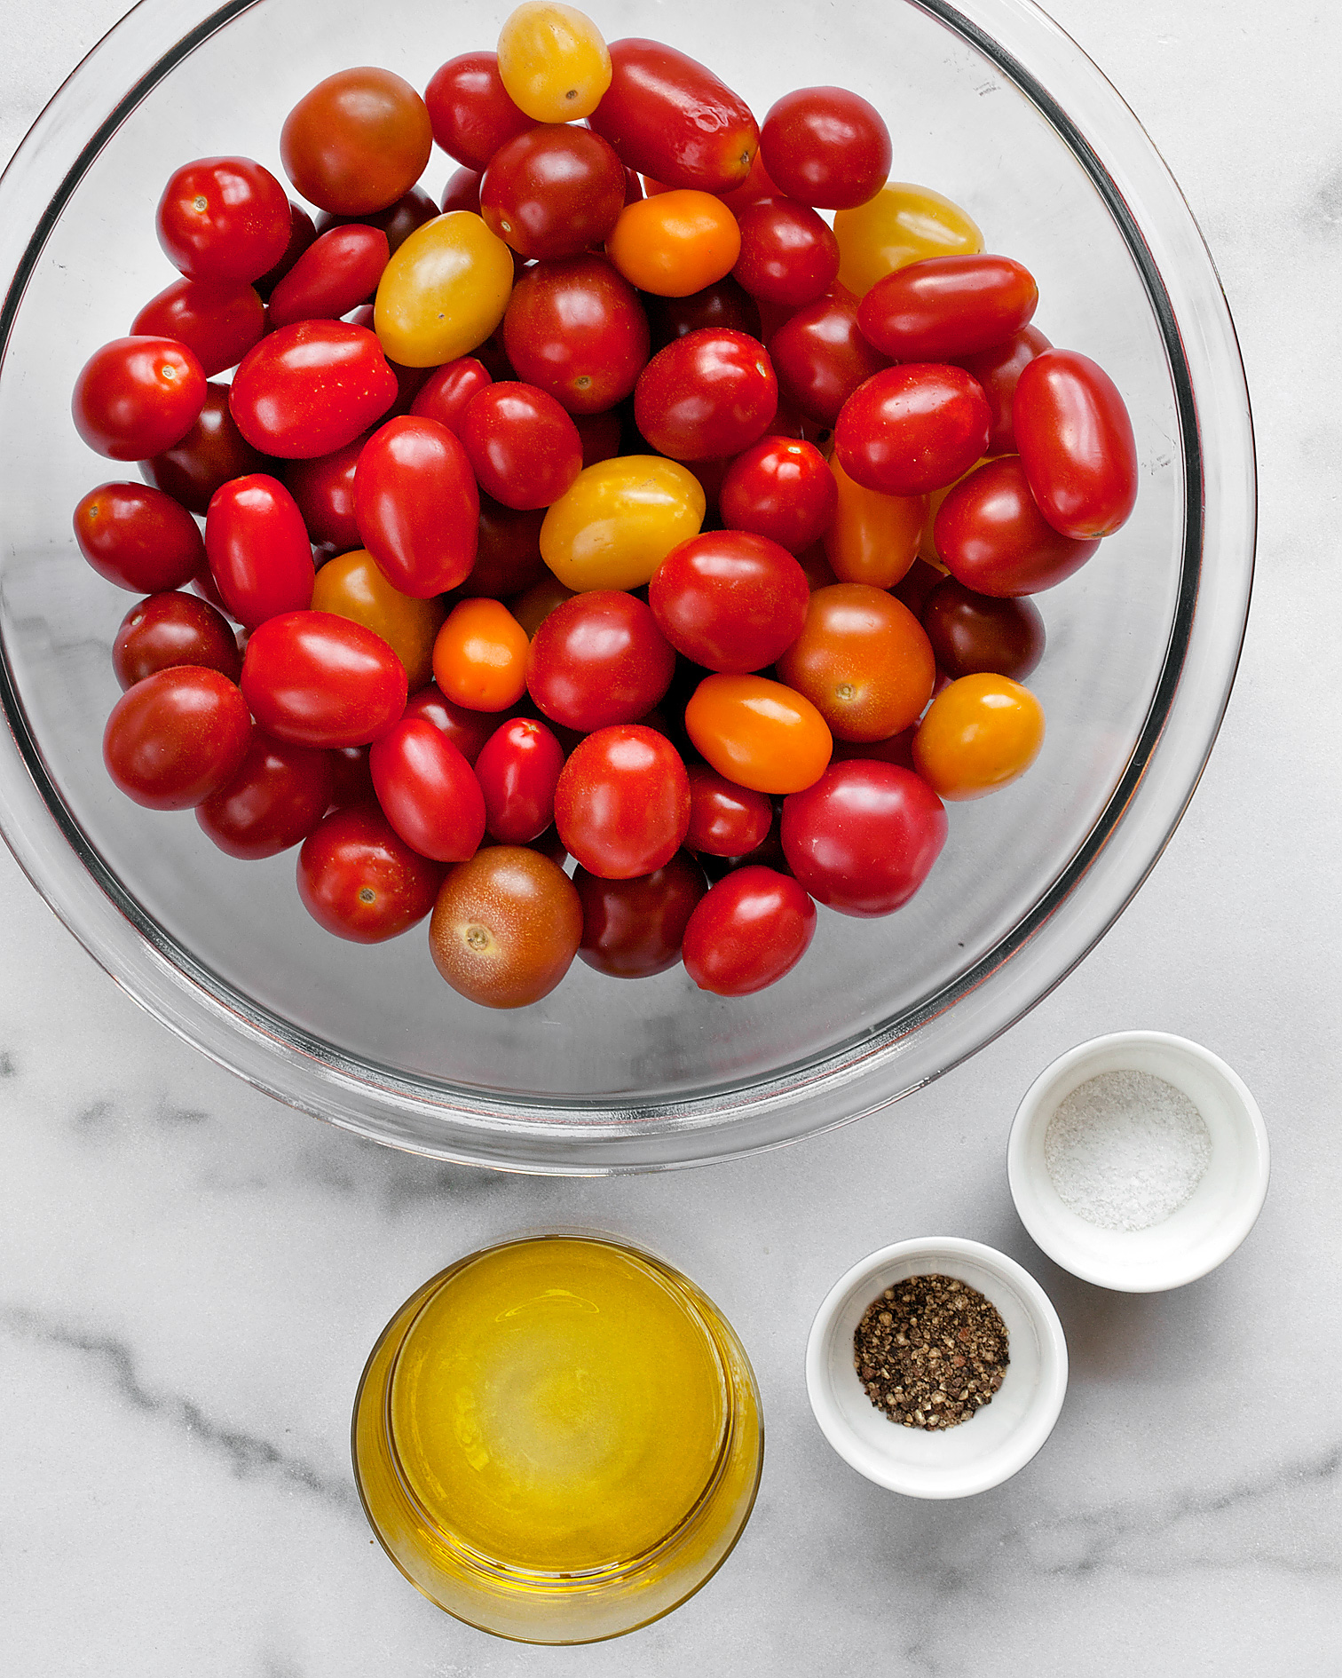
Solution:
[(648, 315), (609, 262), (562, 257), (517, 282), (503, 344), (517, 376), (570, 414), (604, 413), (634, 389), (648, 361)]

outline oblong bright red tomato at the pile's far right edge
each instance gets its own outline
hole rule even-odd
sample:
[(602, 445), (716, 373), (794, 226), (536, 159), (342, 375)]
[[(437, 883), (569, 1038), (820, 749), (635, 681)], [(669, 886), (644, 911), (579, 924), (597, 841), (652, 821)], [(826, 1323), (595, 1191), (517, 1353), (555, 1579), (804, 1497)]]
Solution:
[(1045, 349), (1017, 379), (1012, 425), (1020, 463), (1048, 524), (1075, 542), (1112, 535), (1137, 502), (1137, 445), (1104, 367)]

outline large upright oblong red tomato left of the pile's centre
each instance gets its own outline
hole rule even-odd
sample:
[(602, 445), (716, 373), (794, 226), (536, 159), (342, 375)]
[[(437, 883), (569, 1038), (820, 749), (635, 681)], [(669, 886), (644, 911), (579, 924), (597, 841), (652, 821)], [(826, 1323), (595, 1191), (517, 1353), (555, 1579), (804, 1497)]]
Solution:
[(354, 513), (401, 594), (426, 601), (470, 576), (480, 495), (465, 448), (436, 420), (403, 414), (372, 433), (354, 473)]

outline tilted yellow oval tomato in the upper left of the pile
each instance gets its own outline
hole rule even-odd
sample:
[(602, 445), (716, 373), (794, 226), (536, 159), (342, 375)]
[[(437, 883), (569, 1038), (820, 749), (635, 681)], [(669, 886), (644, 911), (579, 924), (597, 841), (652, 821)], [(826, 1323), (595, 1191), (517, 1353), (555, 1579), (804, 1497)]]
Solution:
[(389, 361), (441, 367), (483, 344), (503, 319), (513, 253), (471, 210), (426, 221), (377, 282), (372, 329)]

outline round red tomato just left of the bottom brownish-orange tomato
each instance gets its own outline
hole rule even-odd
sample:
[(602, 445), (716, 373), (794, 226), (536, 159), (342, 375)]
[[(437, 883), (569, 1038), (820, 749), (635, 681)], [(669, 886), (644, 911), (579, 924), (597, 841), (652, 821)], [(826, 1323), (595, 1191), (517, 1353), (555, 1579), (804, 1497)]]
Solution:
[(376, 804), (332, 810), (299, 851), (299, 896), (337, 938), (384, 943), (433, 908), (443, 864), (401, 839)]

